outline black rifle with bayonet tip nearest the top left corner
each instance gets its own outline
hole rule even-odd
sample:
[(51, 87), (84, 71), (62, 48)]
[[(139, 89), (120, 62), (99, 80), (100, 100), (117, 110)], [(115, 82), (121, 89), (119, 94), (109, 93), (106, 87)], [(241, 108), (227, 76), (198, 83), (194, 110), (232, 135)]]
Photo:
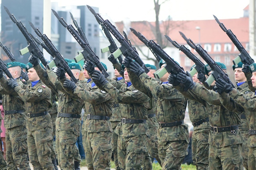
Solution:
[(8, 8), (6, 8), (4, 6), (5, 11), (7, 12), (7, 14), (9, 15), (9, 17), (12, 19), (12, 21), (17, 25), (17, 27), (19, 28), (19, 30), (22, 32), (23, 36), (26, 38), (28, 46), (25, 47), (22, 50), (19, 50), (20, 55), (24, 55), (27, 52), (30, 52), (31, 55), (36, 56), (37, 58), (39, 58), (39, 60), (42, 62), (42, 64), (44, 66), (46, 66), (47, 62), (44, 58), (43, 52), (39, 49), (39, 47), (37, 46), (37, 44), (35, 44), (33, 38), (30, 36), (30, 34), (28, 33), (28, 30), (26, 29), (26, 27), (22, 24), (21, 21), (17, 21), (17, 19), (15, 18), (15, 16), (13, 14), (11, 14), (8, 10)]

